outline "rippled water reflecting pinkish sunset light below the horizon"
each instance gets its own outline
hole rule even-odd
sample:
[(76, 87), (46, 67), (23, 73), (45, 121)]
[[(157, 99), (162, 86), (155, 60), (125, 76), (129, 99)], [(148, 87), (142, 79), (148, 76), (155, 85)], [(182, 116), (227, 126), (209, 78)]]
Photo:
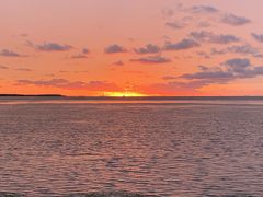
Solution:
[(0, 190), (263, 196), (263, 105), (0, 102)]

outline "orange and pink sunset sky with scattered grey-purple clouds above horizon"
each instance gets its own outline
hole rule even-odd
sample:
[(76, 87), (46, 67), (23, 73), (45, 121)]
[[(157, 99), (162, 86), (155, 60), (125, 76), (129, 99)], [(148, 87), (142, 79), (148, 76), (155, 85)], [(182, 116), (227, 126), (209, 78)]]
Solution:
[(0, 94), (263, 95), (262, 0), (0, 0)]

